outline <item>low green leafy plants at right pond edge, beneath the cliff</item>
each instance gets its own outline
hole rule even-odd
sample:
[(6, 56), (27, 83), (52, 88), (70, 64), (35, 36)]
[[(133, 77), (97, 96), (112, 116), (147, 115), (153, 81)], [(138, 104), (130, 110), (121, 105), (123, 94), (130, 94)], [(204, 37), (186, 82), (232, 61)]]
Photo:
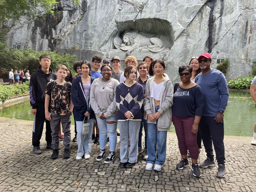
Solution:
[(239, 77), (228, 81), (228, 88), (230, 89), (250, 89), (253, 75), (247, 77)]

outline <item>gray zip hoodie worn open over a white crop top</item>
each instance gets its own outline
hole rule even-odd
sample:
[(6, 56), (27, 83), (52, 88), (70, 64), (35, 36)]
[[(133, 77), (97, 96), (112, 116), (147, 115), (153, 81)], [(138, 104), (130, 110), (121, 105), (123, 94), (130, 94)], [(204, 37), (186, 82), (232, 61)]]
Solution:
[[(152, 113), (152, 115), (154, 115), (156, 113), (154, 98), (150, 97), (151, 90), (153, 88), (154, 78), (155, 77), (149, 78), (147, 81), (147, 84), (146, 84), (145, 94), (148, 95), (148, 97), (144, 99), (143, 105), (144, 105), (144, 110), (147, 113), (147, 115), (150, 113)], [(172, 108), (171, 108), (171, 106), (173, 104), (173, 86), (172, 86), (171, 80), (167, 77), (165, 77), (165, 79), (164, 79), (164, 85), (160, 92), (160, 95), (162, 95), (162, 97), (160, 100), (160, 108), (159, 108), (158, 112), (161, 113), (161, 115), (158, 118), (157, 130), (158, 131), (168, 131), (172, 124)], [(156, 121), (152, 122), (149, 119), (147, 119), (147, 123), (156, 124)]]

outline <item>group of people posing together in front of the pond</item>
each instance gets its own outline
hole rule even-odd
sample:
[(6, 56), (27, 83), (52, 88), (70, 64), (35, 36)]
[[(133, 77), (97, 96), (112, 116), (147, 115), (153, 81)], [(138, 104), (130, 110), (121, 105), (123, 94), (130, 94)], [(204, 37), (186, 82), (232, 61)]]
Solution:
[[(146, 56), (142, 62), (133, 56), (125, 61), (115, 56), (110, 60), (95, 55), (92, 63), (76, 62), (78, 73), (59, 65), (53, 73), (51, 58), (42, 55), (37, 71), (31, 75), (30, 103), (34, 114), (33, 151), (41, 154), (40, 139), (46, 122), (46, 148), (52, 159), (59, 155), (60, 124), (64, 133), (64, 158), (70, 157), (71, 113), (74, 115), (76, 160), (91, 157), (92, 143), (98, 135), (97, 161), (109, 164), (116, 158), (117, 124), (120, 131), (120, 168), (132, 168), (142, 153), (142, 132), (145, 132), (145, 169), (161, 171), (166, 159), (167, 131), (175, 126), (181, 160), (178, 170), (188, 167), (188, 152), (193, 175), (201, 177), (199, 167), (215, 166), (212, 143), (218, 162), (217, 177), (225, 177), (223, 113), (228, 102), (225, 76), (210, 68), (212, 56), (202, 53), (189, 65), (179, 67), (180, 83), (173, 87), (164, 73), (162, 59)], [(112, 65), (111, 65), (112, 64)], [(71, 83), (72, 82), (72, 85)], [(96, 129), (96, 137), (94, 127)], [(94, 136), (94, 137), (93, 137)], [(93, 141), (94, 139), (94, 141)], [(106, 143), (109, 151), (106, 155)], [(207, 158), (197, 163), (203, 140)], [(150, 142), (148, 142), (150, 141)], [(129, 149), (130, 148), (130, 149)], [(107, 156), (107, 158), (105, 157)]]

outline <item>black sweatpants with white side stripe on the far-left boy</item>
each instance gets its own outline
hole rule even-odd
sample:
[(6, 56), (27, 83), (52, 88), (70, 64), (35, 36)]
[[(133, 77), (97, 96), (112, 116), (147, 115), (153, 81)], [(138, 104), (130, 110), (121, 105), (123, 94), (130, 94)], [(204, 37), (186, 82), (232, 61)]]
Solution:
[(44, 121), (46, 123), (45, 140), (47, 143), (52, 143), (52, 131), (50, 121), (45, 119), (44, 103), (37, 103), (36, 115), (34, 115), (33, 132), (32, 132), (32, 145), (34, 147), (40, 145), (42, 137)]

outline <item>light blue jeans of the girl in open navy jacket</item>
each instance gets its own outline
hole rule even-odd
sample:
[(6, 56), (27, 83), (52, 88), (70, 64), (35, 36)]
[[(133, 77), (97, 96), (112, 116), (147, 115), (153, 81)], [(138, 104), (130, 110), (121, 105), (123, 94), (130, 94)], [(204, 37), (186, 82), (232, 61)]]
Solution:
[(89, 119), (89, 133), (83, 135), (83, 121), (76, 121), (76, 139), (77, 139), (77, 156), (82, 157), (84, 154), (92, 152), (92, 128), (94, 119)]

